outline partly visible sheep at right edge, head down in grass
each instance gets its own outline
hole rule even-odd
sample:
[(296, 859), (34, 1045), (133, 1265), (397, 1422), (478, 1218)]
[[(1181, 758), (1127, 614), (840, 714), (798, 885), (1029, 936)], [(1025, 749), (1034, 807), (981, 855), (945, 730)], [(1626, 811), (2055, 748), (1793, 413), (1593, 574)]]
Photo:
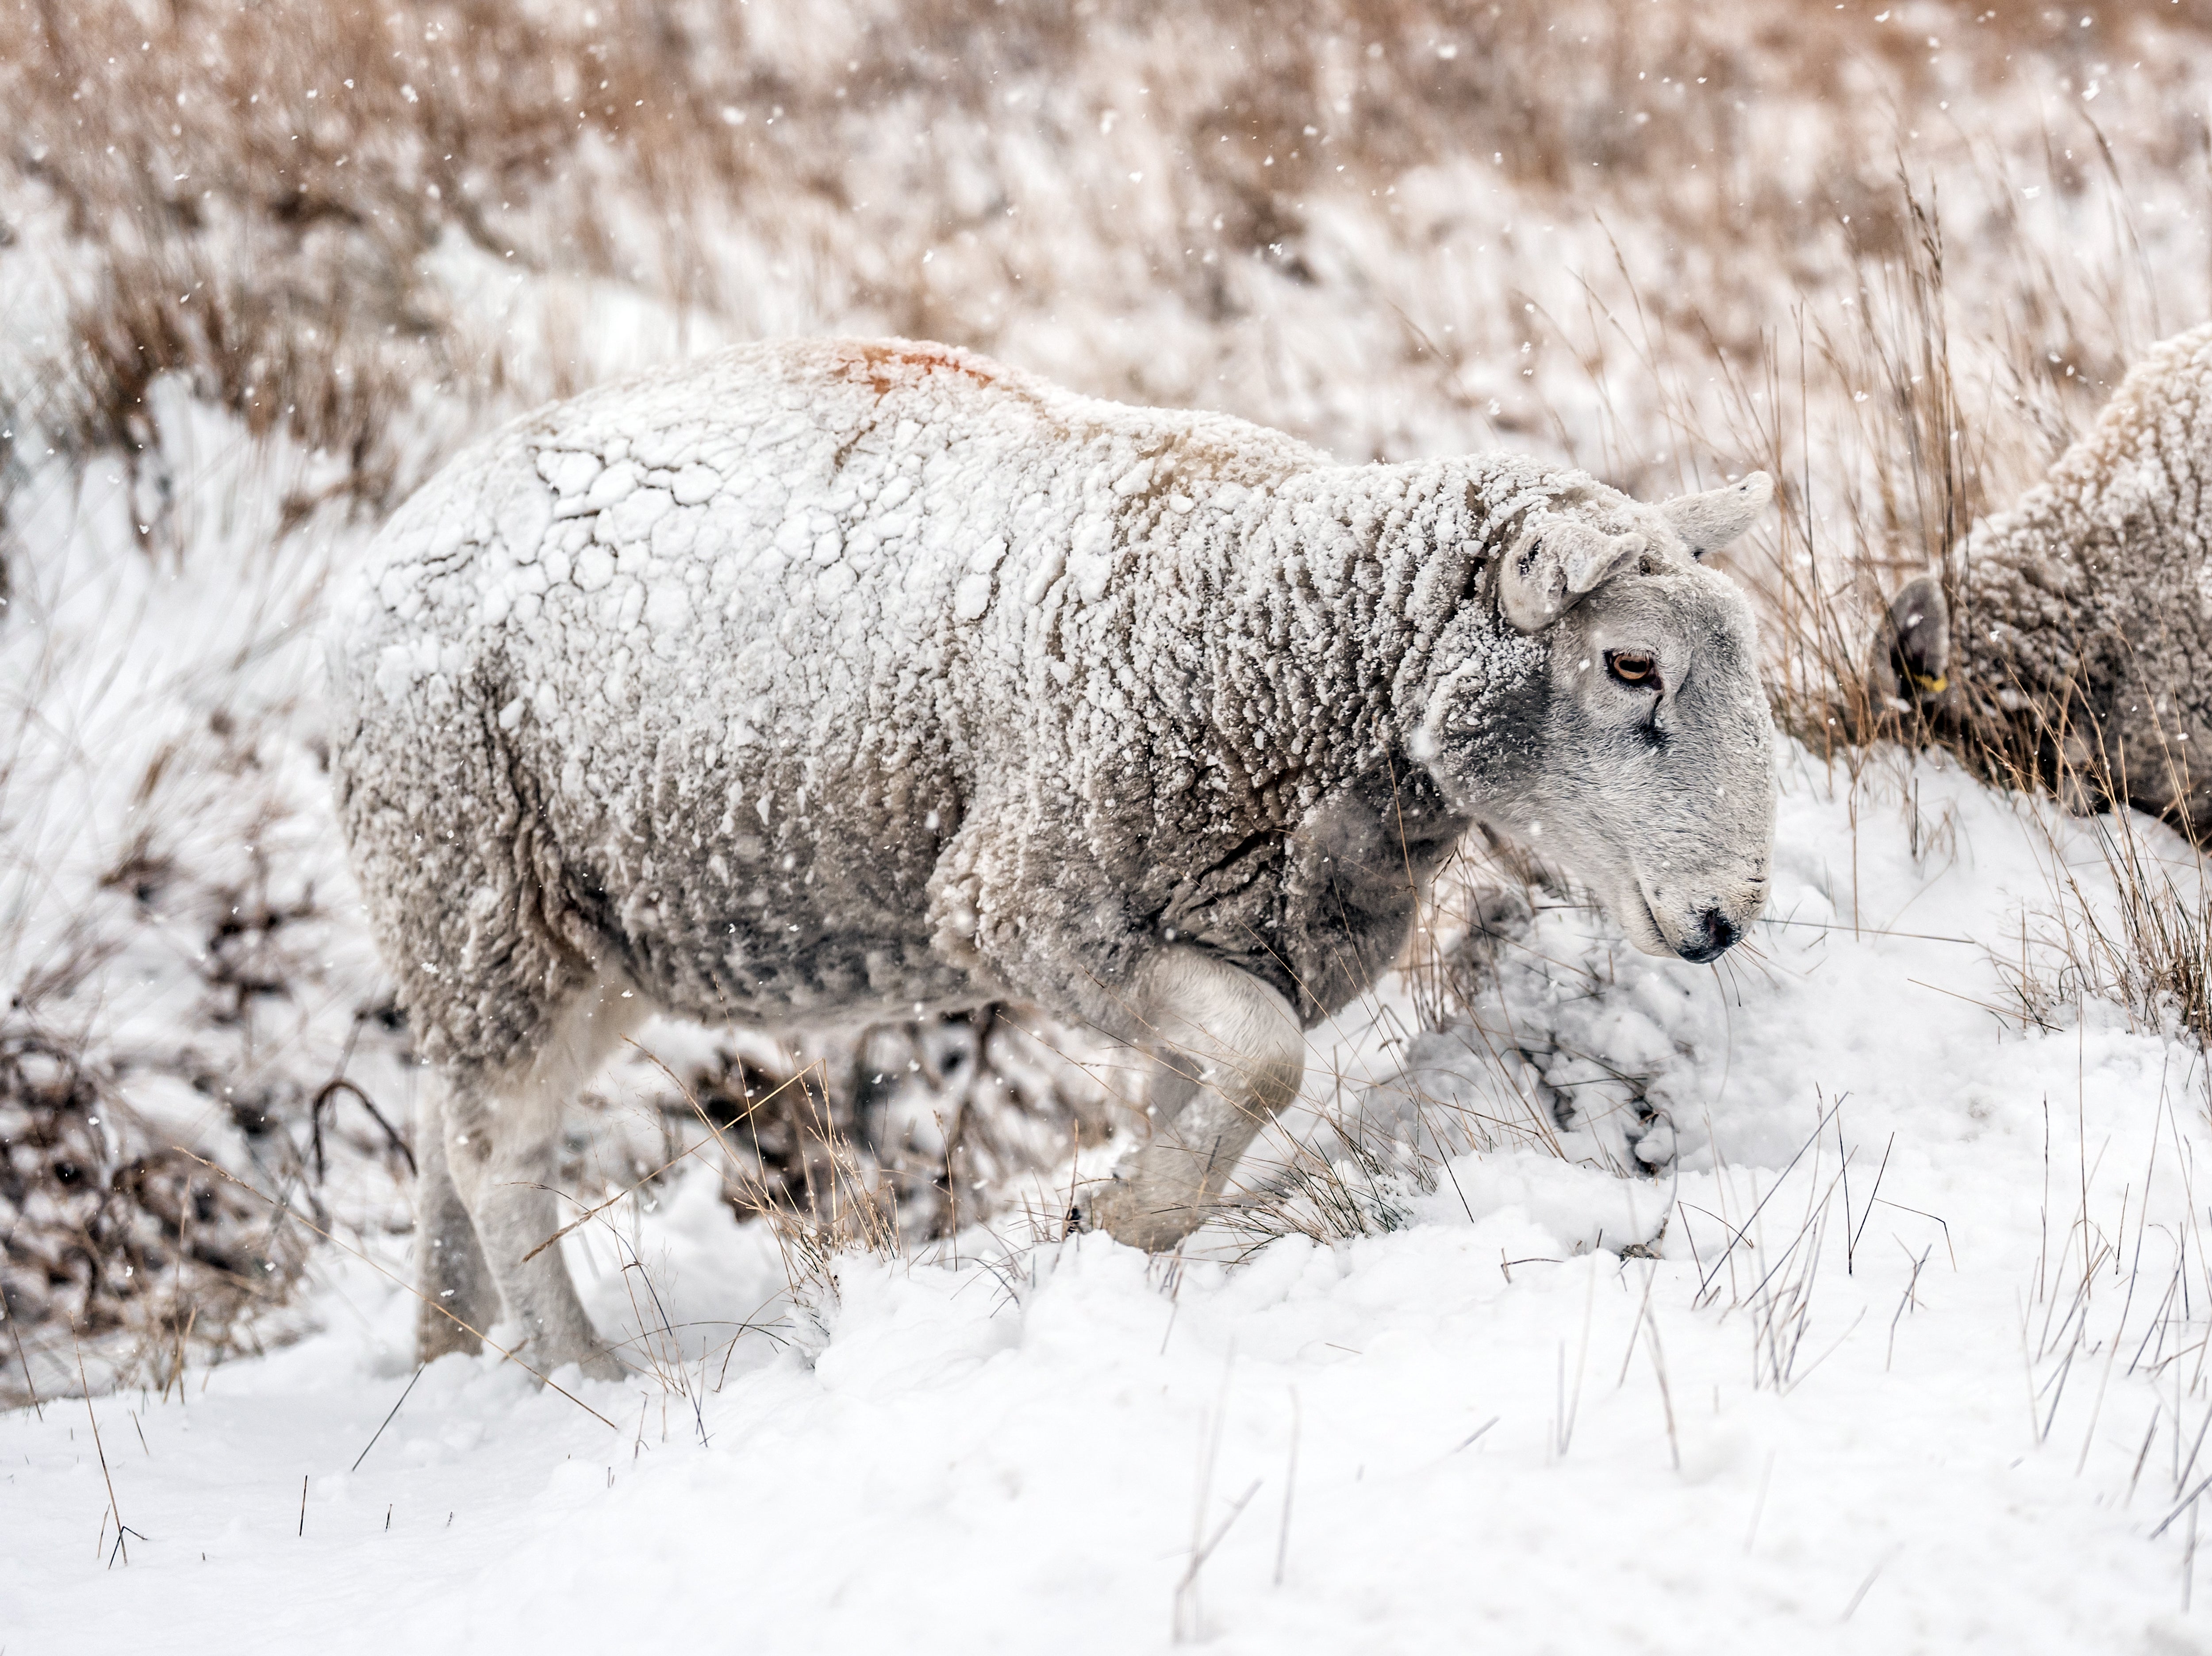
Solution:
[(2039, 484), (1905, 584), (1869, 659), (1878, 701), (2075, 809), (2117, 800), (2203, 838), (2208, 471), (2212, 323), (2154, 347)]

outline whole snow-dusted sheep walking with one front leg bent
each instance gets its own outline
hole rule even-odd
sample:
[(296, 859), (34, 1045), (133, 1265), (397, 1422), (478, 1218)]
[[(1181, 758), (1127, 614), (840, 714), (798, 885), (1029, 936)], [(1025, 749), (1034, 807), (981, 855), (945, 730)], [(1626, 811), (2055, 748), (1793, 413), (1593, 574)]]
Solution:
[(1018, 999), (1148, 1055), (1071, 1214), (1223, 1198), (1305, 1030), (1471, 825), (1712, 960), (1765, 900), (1752, 615), (1663, 509), (1480, 455), (1334, 464), (940, 345), (774, 343), (458, 455), (334, 606), (338, 818), (420, 1057), (420, 1351), (597, 1344), (566, 1099), (648, 1010), (856, 1026)]

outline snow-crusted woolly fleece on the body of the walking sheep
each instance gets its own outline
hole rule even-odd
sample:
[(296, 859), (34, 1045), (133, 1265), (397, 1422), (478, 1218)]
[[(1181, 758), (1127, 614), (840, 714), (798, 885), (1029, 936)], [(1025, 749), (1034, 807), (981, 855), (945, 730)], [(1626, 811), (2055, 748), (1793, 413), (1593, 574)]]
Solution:
[(1110, 1026), (1164, 937), (1314, 1021), (1467, 827), (1405, 710), (1449, 665), (1489, 763), (1531, 758), (1544, 646), (1467, 599), (1562, 502), (1644, 511), (898, 343), (529, 416), (392, 520), (334, 632), (341, 814), (425, 1057), (509, 1066), (606, 975), (710, 1019)]

